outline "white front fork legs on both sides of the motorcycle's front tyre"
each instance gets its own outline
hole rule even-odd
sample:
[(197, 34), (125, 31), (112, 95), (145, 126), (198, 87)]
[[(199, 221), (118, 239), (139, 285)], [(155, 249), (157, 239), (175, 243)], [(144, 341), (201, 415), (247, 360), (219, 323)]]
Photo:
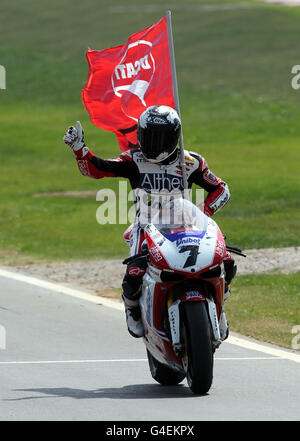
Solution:
[[(202, 294), (199, 294), (199, 300), (192, 300), (192, 301), (207, 302), (208, 317), (210, 320), (212, 333), (213, 333), (213, 346), (215, 349), (218, 348), (221, 344), (221, 335), (220, 335), (218, 314), (217, 314), (217, 308), (215, 302), (208, 299), (207, 297), (202, 296)], [(168, 302), (168, 316), (169, 316), (169, 323), (170, 323), (170, 330), (172, 337), (172, 346), (175, 355), (179, 358), (183, 356), (185, 349), (182, 343), (183, 339), (181, 338), (181, 321), (180, 321), (180, 311), (179, 311), (180, 303), (181, 303), (180, 299), (176, 300), (175, 302), (172, 302), (171, 300), (169, 300)]]

